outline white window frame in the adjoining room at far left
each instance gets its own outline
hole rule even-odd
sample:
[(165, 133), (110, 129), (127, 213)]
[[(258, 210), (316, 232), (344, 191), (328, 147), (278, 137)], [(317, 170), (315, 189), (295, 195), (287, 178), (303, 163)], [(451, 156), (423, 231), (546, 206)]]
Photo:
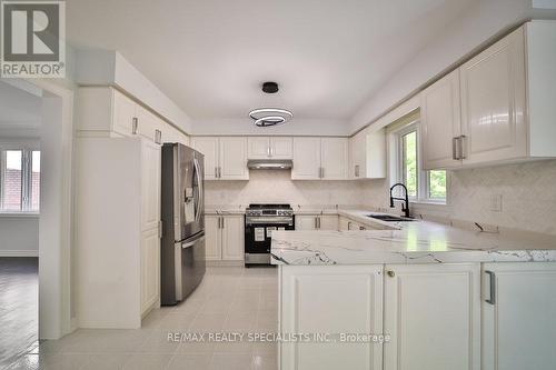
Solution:
[[(3, 207), (4, 196), (4, 178), (6, 178), (6, 151), (21, 151), (21, 209), (6, 210)], [(0, 216), (1, 214), (40, 214), (40, 196), (39, 209), (31, 209), (31, 192), (32, 192), (32, 152), (40, 152), (39, 141), (9, 141), (0, 142)]]

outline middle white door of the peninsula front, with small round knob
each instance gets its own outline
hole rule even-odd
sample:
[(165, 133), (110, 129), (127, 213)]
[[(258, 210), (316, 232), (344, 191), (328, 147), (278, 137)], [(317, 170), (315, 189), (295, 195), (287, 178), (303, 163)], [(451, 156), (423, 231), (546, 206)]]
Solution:
[(384, 369), (480, 370), (480, 266), (385, 267)]

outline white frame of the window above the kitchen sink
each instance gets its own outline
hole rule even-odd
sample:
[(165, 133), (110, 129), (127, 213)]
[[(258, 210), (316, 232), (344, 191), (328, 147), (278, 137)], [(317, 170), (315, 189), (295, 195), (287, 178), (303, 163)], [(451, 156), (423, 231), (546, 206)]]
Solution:
[[(409, 201), (413, 203), (428, 203), (428, 204), (448, 204), (448, 191), (449, 191), (449, 176), (446, 171), (446, 198), (431, 198), (430, 193), (430, 181), (429, 181), (429, 172), (428, 170), (423, 169), (423, 148), (420, 141), (420, 119), (415, 119), (407, 124), (404, 124), (400, 128), (394, 129), (390, 134), (394, 140), (390, 142), (394, 143), (393, 151), (393, 160), (394, 166), (391, 167), (395, 170), (395, 176), (393, 176), (394, 182), (401, 182), (405, 184), (405, 173), (404, 173), (404, 137), (410, 132), (416, 132), (416, 142), (417, 142), (417, 197), (409, 196)], [(393, 182), (393, 184), (394, 184)]]

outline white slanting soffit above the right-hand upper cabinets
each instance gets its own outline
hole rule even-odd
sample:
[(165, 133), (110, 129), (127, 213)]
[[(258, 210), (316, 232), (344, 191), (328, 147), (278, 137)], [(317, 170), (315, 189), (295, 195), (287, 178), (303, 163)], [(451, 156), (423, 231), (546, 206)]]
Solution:
[(534, 10), (530, 0), (478, 1), (369, 97), (367, 103), (351, 118), (350, 132), (375, 121), (388, 109), (418, 91), (427, 81), (528, 18), (554, 19), (556, 11)]

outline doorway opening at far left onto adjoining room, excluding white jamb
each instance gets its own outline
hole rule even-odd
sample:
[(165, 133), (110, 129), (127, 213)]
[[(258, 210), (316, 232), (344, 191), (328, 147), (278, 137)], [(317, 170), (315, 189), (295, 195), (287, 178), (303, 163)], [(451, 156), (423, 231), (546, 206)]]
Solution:
[(41, 111), (41, 89), (0, 81), (0, 359), (4, 362), (32, 350), (39, 338)]

